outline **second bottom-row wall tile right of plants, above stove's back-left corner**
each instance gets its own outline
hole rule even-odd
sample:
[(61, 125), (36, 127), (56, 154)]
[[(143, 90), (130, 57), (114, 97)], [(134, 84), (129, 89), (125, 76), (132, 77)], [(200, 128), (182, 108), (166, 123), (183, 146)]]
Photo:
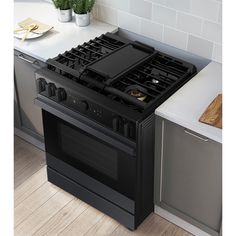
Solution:
[(141, 18), (127, 12), (118, 11), (118, 26), (134, 33), (140, 33)]

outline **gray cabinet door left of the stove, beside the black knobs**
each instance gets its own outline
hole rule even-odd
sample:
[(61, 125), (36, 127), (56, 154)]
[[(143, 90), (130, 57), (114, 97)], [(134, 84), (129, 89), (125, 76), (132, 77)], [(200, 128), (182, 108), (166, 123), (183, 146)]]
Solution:
[(43, 136), (41, 109), (34, 104), (36, 84), (34, 72), (41, 62), (15, 51), (14, 69), (17, 94), (19, 98), (21, 126), (30, 134)]

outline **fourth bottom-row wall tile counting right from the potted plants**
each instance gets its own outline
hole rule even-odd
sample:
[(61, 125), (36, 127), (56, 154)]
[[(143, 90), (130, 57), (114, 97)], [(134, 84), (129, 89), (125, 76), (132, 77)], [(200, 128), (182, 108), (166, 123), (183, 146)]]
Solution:
[(163, 42), (171, 46), (186, 50), (188, 34), (165, 26)]

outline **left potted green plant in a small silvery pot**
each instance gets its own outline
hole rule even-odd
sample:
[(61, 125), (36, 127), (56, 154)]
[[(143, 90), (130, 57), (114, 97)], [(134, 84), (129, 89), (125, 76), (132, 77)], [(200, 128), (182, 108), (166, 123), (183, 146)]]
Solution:
[(57, 9), (57, 18), (61, 22), (72, 19), (71, 0), (52, 0)]

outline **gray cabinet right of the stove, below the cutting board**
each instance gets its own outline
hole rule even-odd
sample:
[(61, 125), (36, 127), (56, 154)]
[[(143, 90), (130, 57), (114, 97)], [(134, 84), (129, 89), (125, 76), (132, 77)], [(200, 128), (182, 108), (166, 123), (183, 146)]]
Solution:
[(156, 120), (155, 204), (211, 235), (222, 215), (222, 145)]

